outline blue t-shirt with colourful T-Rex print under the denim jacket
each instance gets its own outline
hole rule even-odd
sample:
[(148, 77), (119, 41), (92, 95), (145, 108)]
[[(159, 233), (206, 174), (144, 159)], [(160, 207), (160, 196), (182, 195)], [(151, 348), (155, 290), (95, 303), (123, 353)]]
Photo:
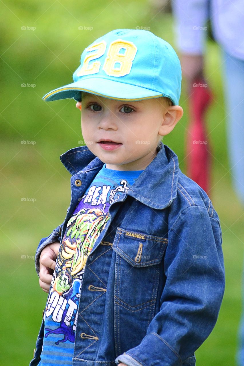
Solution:
[(126, 192), (143, 172), (106, 164), (86, 189), (64, 232), (44, 313), (42, 365), (72, 365), (78, 304), (86, 260), (110, 214), (115, 193)]

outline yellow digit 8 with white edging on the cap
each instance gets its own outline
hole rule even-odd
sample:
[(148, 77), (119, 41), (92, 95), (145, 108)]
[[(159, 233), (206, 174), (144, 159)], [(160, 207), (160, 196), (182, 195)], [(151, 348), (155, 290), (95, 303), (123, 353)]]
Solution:
[[(121, 49), (125, 49), (124, 53), (119, 53)], [(132, 42), (122, 40), (111, 42), (103, 70), (109, 76), (124, 76), (129, 74), (136, 52), (137, 47)], [(115, 68), (116, 63), (120, 64), (119, 68)]]

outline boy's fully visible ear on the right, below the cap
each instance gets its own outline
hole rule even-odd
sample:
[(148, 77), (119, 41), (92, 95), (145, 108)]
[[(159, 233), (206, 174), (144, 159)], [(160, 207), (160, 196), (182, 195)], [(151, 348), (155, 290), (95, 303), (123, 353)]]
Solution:
[(173, 131), (175, 125), (183, 116), (183, 113), (183, 109), (180, 105), (171, 105), (170, 107), (167, 107), (163, 116), (163, 122), (159, 128), (159, 135), (165, 136)]

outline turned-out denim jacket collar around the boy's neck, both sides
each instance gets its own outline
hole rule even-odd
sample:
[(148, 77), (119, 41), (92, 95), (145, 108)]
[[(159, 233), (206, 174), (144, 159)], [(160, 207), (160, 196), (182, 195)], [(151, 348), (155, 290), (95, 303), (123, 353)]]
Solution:
[[(99, 167), (101, 169), (104, 164), (86, 145), (68, 150), (60, 156), (60, 160), (72, 175)], [(177, 195), (179, 170), (177, 155), (160, 141), (158, 154), (128, 189), (127, 194), (151, 208), (166, 208)]]

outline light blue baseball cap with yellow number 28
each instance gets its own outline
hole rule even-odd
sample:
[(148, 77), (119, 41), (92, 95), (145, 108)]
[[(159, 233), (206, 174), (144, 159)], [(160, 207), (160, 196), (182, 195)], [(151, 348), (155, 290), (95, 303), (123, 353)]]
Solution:
[(172, 46), (152, 32), (116, 29), (82, 52), (73, 80), (42, 99), (81, 101), (81, 91), (86, 91), (115, 100), (168, 97), (178, 105), (181, 65)]

